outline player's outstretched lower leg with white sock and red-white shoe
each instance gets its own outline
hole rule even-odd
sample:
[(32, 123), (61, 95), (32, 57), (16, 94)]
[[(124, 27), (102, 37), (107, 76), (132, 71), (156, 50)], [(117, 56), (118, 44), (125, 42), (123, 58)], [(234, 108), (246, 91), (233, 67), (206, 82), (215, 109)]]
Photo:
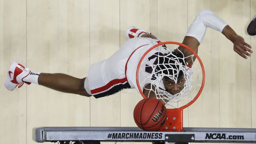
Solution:
[(23, 65), (13, 62), (5, 80), (5, 87), (13, 91), (17, 86), (18, 88), (21, 87), (23, 83), (35, 83), (56, 91), (90, 96), (84, 88), (84, 82), (85, 78), (78, 79), (62, 73), (31, 72)]

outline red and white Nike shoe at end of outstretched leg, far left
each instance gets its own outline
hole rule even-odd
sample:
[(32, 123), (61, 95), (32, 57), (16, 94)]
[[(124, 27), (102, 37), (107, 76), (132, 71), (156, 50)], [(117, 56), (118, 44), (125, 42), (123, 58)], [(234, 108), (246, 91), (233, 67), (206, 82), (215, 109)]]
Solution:
[[(14, 61), (7, 73), (5, 88), (9, 91), (15, 90), (17, 86), (18, 88), (20, 88), (24, 84), (23, 79), (28, 76), (29, 73), (30, 70), (28, 68), (25, 68), (23, 65)], [(25, 83), (31, 84), (31, 82)]]

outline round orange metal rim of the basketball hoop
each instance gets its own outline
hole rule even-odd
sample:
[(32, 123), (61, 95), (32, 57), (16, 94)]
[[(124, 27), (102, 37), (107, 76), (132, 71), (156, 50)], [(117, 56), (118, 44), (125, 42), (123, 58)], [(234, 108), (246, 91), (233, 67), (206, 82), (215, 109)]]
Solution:
[(187, 48), (188, 50), (190, 50), (195, 56), (196, 58), (198, 59), (200, 65), (201, 65), (201, 68), (202, 68), (202, 85), (201, 85), (201, 88), (200, 90), (198, 91), (197, 95), (194, 97), (194, 99), (192, 101), (190, 101), (189, 103), (187, 103), (186, 105), (180, 107), (180, 108), (175, 108), (175, 109), (184, 109), (188, 106), (190, 106), (193, 102), (195, 102), (197, 100), (197, 98), (200, 96), (202, 90), (203, 90), (203, 86), (204, 86), (204, 79), (205, 79), (205, 74), (204, 74), (204, 67), (203, 67), (203, 63), (200, 59), (200, 57), (187, 45), (185, 44), (182, 44), (182, 43), (178, 43), (178, 42), (163, 42), (163, 43), (158, 43), (156, 45), (154, 45), (153, 47), (151, 47), (150, 49), (148, 49), (142, 56), (142, 58), (140, 59), (139, 61), (139, 64), (138, 64), (138, 67), (137, 67), (137, 70), (136, 70), (136, 82), (137, 82), (137, 87), (141, 93), (141, 95), (143, 96), (143, 98), (147, 98), (144, 94), (143, 94), (143, 91), (141, 90), (141, 87), (140, 87), (140, 84), (139, 84), (139, 80), (138, 80), (138, 76), (139, 76), (139, 68), (140, 68), (140, 65), (141, 65), (141, 62), (142, 60), (144, 59), (144, 57), (147, 55), (147, 53), (149, 53), (151, 50), (153, 50), (154, 48), (160, 46), (160, 45), (164, 45), (164, 44), (177, 44), (177, 45), (180, 45), (180, 46), (183, 46), (185, 48)]

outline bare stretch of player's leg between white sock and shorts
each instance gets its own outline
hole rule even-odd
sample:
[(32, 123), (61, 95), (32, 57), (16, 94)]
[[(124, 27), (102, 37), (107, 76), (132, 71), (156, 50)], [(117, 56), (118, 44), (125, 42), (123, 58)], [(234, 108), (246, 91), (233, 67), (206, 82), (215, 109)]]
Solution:
[(38, 84), (56, 91), (90, 97), (91, 95), (84, 89), (85, 79), (78, 79), (63, 73), (40, 73)]

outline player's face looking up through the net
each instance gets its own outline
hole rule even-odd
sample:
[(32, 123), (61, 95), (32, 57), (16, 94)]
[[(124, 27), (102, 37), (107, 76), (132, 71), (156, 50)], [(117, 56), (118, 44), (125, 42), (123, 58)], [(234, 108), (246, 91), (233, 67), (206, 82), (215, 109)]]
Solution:
[(175, 83), (173, 80), (166, 77), (164, 77), (162, 81), (163, 81), (165, 90), (171, 93), (172, 95), (181, 92), (185, 84), (185, 79), (183, 75), (178, 78), (177, 83)]

